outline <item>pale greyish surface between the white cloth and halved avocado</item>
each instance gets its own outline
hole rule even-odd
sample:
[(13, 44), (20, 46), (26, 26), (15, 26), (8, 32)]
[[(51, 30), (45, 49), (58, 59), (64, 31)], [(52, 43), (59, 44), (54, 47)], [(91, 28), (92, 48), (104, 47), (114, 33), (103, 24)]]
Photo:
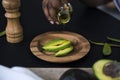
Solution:
[[(28, 68), (33, 73), (43, 78), (44, 80), (59, 80), (59, 78), (71, 68)], [(92, 77), (95, 77), (91, 68), (74, 68), (88, 72)], [(53, 76), (54, 75), (54, 76)], [(96, 79), (95, 79), (96, 80)]]

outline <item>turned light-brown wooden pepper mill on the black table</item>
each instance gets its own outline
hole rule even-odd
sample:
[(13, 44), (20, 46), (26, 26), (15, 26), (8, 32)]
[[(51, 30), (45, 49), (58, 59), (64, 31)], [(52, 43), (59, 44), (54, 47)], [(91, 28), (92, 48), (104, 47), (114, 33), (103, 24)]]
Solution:
[(9, 43), (19, 43), (23, 40), (23, 29), (20, 24), (21, 5), (20, 0), (2, 0), (2, 5), (5, 8), (5, 17), (7, 18), (6, 38)]

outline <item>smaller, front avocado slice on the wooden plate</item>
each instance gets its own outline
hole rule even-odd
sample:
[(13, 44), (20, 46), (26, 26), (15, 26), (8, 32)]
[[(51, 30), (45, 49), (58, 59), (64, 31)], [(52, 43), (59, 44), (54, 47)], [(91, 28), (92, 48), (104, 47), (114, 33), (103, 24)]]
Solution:
[(57, 57), (65, 56), (65, 55), (69, 54), (72, 50), (73, 50), (73, 46), (70, 46), (68, 48), (58, 51), (57, 53), (55, 53), (55, 56), (57, 56)]

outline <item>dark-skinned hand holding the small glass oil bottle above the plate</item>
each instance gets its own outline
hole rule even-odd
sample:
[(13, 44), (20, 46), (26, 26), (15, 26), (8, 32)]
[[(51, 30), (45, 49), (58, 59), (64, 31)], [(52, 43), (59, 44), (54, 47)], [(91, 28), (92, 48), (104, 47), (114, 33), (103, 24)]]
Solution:
[(68, 3), (67, 0), (43, 0), (42, 8), (46, 18), (49, 20), (51, 24), (59, 24), (57, 19), (57, 12), (59, 8)]

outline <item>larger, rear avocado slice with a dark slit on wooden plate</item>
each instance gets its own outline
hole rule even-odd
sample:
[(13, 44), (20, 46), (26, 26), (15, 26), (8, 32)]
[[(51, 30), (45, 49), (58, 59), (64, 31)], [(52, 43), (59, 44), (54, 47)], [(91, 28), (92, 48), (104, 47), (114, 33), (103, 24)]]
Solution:
[(71, 42), (69, 40), (58, 39), (58, 40), (53, 40), (53, 41), (47, 43), (42, 48), (46, 51), (56, 52), (56, 51), (65, 49), (69, 46), (71, 46)]

